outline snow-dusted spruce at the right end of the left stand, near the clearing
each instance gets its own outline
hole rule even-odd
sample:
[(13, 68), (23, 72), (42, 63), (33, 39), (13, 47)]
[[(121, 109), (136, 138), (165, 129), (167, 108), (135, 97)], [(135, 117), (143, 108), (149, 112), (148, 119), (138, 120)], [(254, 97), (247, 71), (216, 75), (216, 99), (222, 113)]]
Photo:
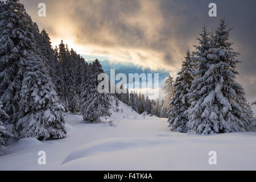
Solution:
[(89, 67), (81, 86), (81, 114), (84, 121), (97, 121), (102, 116), (110, 115), (110, 96), (98, 92), (98, 75), (104, 73), (100, 62), (96, 59)]

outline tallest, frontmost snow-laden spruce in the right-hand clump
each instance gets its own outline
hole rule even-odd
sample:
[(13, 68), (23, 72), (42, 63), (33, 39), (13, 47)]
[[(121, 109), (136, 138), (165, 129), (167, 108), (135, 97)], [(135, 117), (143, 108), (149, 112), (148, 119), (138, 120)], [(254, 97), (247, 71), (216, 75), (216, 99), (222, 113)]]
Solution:
[[(242, 86), (236, 82), (239, 53), (229, 42), (230, 30), (225, 19), (221, 19), (213, 40), (197, 47), (200, 67), (191, 87), (195, 88), (196, 100), (187, 112), (188, 131), (212, 134), (251, 130), (251, 111)], [(209, 47), (203, 52), (207, 44)]]

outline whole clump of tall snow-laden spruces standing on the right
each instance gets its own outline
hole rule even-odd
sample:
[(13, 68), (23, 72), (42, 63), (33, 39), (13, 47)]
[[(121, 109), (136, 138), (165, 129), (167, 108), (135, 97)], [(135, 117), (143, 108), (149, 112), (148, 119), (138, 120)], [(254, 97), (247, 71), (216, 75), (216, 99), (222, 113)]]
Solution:
[(172, 131), (229, 133), (254, 131), (253, 111), (236, 81), (236, 52), (229, 42), (232, 28), (220, 20), (214, 32), (204, 26), (195, 52), (187, 52), (178, 73), (169, 115)]

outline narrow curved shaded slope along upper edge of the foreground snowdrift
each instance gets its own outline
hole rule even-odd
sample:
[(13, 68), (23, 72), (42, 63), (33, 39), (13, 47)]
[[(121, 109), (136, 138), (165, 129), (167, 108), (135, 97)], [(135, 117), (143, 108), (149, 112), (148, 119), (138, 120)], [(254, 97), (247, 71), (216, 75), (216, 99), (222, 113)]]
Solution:
[(145, 148), (158, 146), (163, 144), (171, 144), (174, 141), (171, 139), (150, 138), (108, 138), (97, 140), (95, 142), (86, 143), (73, 152), (71, 152), (64, 160), (63, 164), (71, 162), (72, 160), (86, 158), (88, 156), (99, 153), (114, 152), (127, 150), (129, 148)]

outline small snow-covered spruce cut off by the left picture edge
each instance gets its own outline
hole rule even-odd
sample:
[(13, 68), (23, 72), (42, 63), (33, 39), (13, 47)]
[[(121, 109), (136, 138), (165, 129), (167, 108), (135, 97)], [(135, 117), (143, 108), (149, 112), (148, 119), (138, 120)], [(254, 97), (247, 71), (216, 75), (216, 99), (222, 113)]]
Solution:
[(2, 103), (0, 102), (0, 146), (5, 145), (10, 137), (13, 135), (10, 134), (8, 131), (6, 131), (5, 126), (3, 126), (2, 119), (9, 118), (9, 115), (5, 113), (4, 110), (2, 110)]

